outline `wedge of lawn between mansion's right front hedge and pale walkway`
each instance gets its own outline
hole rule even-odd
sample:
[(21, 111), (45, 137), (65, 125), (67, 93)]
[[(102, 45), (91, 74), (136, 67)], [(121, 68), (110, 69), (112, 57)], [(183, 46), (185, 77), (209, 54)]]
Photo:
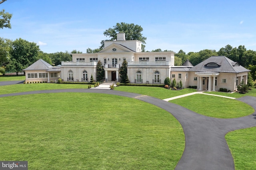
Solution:
[(115, 87), (114, 90), (148, 95), (148, 96), (156, 97), (158, 99), (167, 99), (170, 97), (184, 95), (186, 93), (192, 93), (196, 91), (196, 89), (168, 90), (162, 87), (143, 87), (143, 86), (142, 87), (141, 86), (119, 86), (119, 87)]

